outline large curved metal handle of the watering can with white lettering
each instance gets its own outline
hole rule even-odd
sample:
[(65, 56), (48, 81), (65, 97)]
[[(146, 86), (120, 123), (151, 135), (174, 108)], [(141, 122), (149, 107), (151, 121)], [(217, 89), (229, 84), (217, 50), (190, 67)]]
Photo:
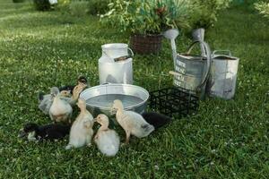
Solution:
[(187, 55), (190, 54), (190, 52), (192, 51), (195, 44), (202, 44), (203, 45), (203, 47), (205, 49), (205, 57), (206, 57), (206, 68), (207, 69), (206, 69), (206, 72), (204, 72), (204, 78), (203, 78), (202, 82), (200, 83), (200, 85), (197, 86), (197, 89), (196, 89), (196, 91), (200, 91), (201, 88), (204, 86), (204, 83), (209, 78), (209, 71), (210, 71), (210, 66), (211, 66), (211, 50), (206, 42), (198, 40), (198, 41), (195, 41), (194, 43), (192, 43), (191, 46), (188, 48)]

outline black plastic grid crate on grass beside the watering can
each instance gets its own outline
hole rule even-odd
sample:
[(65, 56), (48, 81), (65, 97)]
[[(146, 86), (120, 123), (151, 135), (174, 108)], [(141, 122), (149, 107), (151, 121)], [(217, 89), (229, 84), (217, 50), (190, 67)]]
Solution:
[(198, 97), (175, 87), (151, 91), (150, 96), (149, 106), (163, 115), (194, 115), (199, 107)]

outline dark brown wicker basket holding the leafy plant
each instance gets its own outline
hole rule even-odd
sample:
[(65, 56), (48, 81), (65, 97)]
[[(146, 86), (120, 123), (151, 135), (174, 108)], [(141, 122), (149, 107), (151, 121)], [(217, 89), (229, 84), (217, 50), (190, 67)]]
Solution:
[(156, 54), (161, 50), (162, 35), (134, 34), (130, 38), (130, 47), (137, 54)]

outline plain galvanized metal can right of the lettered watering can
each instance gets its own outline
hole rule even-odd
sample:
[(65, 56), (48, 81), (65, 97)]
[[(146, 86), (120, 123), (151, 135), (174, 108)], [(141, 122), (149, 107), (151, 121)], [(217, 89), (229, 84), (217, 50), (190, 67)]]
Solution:
[[(217, 54), (220, 52), (228, 55)], [(230, 51), (213, 51), (212, 67), (208, 81), (208, 93), (212, 97), (230, 99), (236, 90), (239, 58), (230, 54)]]

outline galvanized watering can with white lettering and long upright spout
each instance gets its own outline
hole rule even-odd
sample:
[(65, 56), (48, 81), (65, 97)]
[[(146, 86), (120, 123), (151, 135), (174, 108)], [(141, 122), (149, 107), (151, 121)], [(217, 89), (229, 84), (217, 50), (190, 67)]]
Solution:
[[(209, 78), (211, 66), (211, 50), (206, 42), (196, 40), (188, 47), (187, 53), (177, 54), (175, 39), (178, 37), (178, 30), (167, 30), (164, 37), (171, 41), (174, 68), (175, 71), (169, 72), (174, 75), (174, 85), (182, 90), (199, 96), (201, 99), (205, 97), (205, 86)], [(195, 45), (200, 45), (204, 49), (202, 55), (191, 55), (191, 51)], [(204, 54), (203, 54), (204, 53)]]

